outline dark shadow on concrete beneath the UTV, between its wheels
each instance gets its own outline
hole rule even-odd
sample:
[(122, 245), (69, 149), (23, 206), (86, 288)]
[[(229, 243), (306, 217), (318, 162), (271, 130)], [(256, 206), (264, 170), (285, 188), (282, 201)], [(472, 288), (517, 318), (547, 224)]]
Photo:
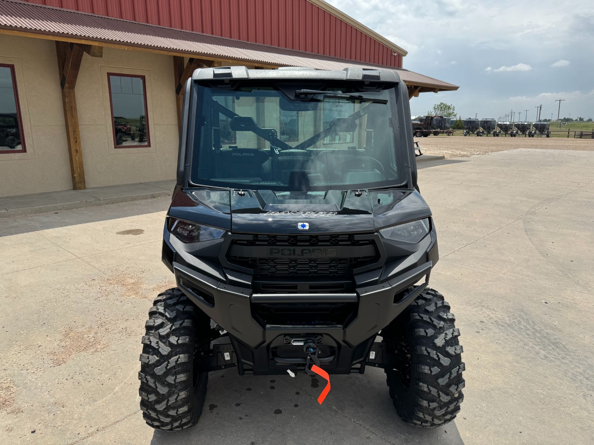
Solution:
[(464, 443), (456, 421), (437, 428), (402, 422), (381, 370), (330, 380), (330, 394), (318, 405), (323, 382), (305, 374), (292, 379), (239, 376), (234, 369), (210, 373), (198, 424), (184, 431), (155, 430), (151, 444)]

